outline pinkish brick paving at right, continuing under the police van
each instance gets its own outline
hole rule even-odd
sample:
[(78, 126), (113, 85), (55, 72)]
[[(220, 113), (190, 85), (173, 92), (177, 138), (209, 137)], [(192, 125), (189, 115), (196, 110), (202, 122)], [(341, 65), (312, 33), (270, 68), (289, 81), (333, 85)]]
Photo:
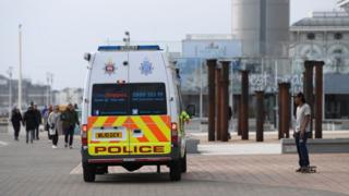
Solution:
[[(317, 172), (297, 173), (296, 155), (277, 156), (189, 156), (185, 180), (234, 182), (268, 186), (301, 187), (349, 194), (349, 155), (313, 155)], [(156, 167), (143, 167), (133, 173), (155, 173)], [(168, 172), (161, 167), (161, 172)], [(81, 174), (79, 164), (71, 174)], [(121, 167), (110, 167), (109, 173), (128, 173)], [(123, 175), (124, 176), (124, 175)]]

